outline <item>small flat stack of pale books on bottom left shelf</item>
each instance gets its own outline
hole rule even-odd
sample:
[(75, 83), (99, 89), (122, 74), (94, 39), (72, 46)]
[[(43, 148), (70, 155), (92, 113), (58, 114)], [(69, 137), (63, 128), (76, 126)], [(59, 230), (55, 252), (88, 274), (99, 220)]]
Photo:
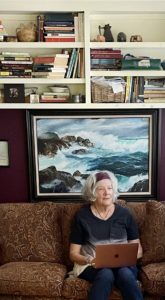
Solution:
[(44, 92), (40, 97), (41, 103), (62, 103), (70, 99), (70, 90), (67, 86), (50, 87), (51, 92)]

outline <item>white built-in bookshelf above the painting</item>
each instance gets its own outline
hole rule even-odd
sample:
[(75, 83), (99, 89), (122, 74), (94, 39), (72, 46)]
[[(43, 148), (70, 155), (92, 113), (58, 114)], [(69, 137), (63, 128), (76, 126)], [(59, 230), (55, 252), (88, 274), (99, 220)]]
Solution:
[[(0, 108), (19, 108), (19, 109), (52, 109), (52, 108), (165, 108), (165, 103), (92, 103), (91, 101), (91, 77), (93, 76), (153, 76), (165, 77), (165, 71), (94, 71), (90, 67), (90, 50), (99, 48), (121, 49), (123, 55), (131, 53), (133, 55), (151, 56), (153, 58), (165, 59), (165, 1), (150, 0), (61, 0), (56, 3), (53, 0), (42, 2), (39, 0), (29, 0), (20, 2), (18, 0), (1, 0), (2, 19), (9, 34), (14, 34), (16, 28), (21, 23), (35, 21), (36, 16), (44, 12), (73, 11), (84, 12), (84, 42), (75, 43), (21, 43), (21, 42), (1, 42), (0, 51), (27, 51), (35, 56), (36, 54), (59, 53), (60, 49), (83, 48), (85, 52), (85, 78), (69, 79), (42, 79), (42, 78), (0, 78), (0, 86), (5, 83), (18, 84), (25, 86), (37, 85), (41, 90), (53, 84), (66, 84), (71, 87), (72, 94), (84, 93), (85, 103), (66, 103), (66, 104), (30, 104), (0, 103)], [(115, 41), (113, 43), (93, 42), (96, 38), (99, 25), (110, 24)], [(123, 31), (127, 35), (127, 42), (117, 42), (117, 33)], [(140, 34), (143, 42), (131, 43), (130, 36)]]

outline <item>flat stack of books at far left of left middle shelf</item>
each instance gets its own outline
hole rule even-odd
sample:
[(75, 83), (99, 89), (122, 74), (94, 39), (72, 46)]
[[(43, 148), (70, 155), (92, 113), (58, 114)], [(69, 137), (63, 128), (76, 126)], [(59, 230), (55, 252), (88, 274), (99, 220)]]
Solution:
[(32, 77), (33, 60), (29, 53), (1, 52), (0, 77)]

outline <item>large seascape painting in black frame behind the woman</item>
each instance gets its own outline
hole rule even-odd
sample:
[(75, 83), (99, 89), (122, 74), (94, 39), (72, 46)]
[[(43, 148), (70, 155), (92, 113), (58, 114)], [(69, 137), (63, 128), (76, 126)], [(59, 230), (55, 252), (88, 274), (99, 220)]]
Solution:
[(115, 173), (120, 198), (157, 196), (158, 111), (27, 111), (33, 201), (81, 201), (93, 171)]

